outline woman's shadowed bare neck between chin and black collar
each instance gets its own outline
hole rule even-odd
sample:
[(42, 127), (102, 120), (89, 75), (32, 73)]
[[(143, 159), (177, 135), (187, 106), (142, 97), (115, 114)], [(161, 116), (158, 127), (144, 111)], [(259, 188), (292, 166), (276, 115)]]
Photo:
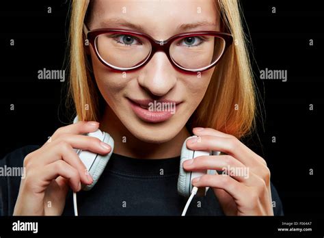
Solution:
[(113, 153), (141, 159), (178, 157), (183, 142), (190, 136), (187, 128), (183, 127), (178, 135), (167, 142), (157, 144), (141, 141), (124, 127), (124, 124), (108, 106), (100, 120), (100, 130), (109, 133), (113, 137), (115, 142)]

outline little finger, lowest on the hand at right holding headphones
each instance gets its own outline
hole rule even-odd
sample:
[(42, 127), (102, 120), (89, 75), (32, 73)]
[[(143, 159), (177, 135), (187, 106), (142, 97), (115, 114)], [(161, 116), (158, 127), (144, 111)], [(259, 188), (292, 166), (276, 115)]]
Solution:
[(245, 200), (248, 192), (247, 187), (243, 183), (239, 183), (228, 175), (204, 174), (198, 178), (194, 178), (192, 185), (195, 187), (224, 189), (234, 200)]

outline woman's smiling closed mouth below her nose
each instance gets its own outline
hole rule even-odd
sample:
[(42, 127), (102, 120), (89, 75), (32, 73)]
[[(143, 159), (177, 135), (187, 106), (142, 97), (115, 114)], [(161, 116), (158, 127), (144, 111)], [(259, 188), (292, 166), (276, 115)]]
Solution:
[(181, 101), (150, 99), (138, 100), (127, 98), (131, 109), (144, 122), (158, 123), (170, 119), (176, 113)]

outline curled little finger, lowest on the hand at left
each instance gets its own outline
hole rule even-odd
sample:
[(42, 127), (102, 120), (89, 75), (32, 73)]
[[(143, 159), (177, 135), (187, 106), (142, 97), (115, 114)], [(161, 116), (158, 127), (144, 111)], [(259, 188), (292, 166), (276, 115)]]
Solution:
[(68, 179), (69, 185), (73, 191), (80, 191), (81, 181), (78, 170), (62, 160), (44, 166), (42, 172), (38, 175), (38, 178), (42, 181), (51, 183), (51, 181), (56, 179), (57, 176), (62, 176), (63, 178)]

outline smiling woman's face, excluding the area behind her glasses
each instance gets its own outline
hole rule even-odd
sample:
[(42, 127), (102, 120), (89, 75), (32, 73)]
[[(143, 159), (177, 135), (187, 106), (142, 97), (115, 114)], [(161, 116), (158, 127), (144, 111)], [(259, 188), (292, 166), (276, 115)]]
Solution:
[[(139, 31), (135, 25), (156, 40), (167, 40), (187, 31), (219, 31), (219, 14), (213, 0), (94, 1), (90, 29)], [(214, 70), (185, 73), (158, 51), (144, 67), (123, 73), (103, 65), (92, 47), (90, 54), (108, 109), (137, 139), (151, 143), (167, 142), (185, 127), (202, 101)]]

